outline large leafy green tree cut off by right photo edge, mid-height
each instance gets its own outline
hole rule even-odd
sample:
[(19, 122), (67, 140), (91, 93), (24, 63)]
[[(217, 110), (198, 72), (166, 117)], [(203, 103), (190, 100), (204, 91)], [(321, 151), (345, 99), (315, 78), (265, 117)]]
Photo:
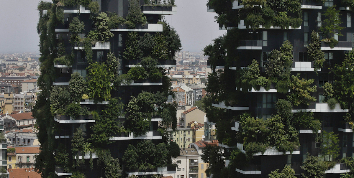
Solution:
[(342, 108), (349, 108), (354, 99), (354, 51), (349, 51), (342, 65), (336, 64), (332, 71), (334, 98)]

